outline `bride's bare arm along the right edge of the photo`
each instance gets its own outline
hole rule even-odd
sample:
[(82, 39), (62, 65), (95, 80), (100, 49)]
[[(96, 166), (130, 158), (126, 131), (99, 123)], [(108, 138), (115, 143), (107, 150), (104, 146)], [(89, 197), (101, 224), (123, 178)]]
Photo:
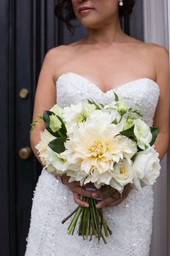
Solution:
[(169, 148), (169, 114), (170, 114), (170, 80), (169, 54), (166, 48), (155, 46), (156, 82), (160, 88), (158, 106), (154, 116), (153, 127), (159, 127), (155, 149), (161, 160)]

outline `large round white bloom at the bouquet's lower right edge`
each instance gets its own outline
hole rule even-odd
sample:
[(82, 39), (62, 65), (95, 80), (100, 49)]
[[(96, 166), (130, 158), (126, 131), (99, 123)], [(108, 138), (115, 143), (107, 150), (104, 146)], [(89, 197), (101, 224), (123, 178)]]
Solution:
[(137, 153), (133, 163), (135, 171), (134, 184), (137, 189), (156, 182), (161, 169), (159, 162), (158, 153), (153, 147)]

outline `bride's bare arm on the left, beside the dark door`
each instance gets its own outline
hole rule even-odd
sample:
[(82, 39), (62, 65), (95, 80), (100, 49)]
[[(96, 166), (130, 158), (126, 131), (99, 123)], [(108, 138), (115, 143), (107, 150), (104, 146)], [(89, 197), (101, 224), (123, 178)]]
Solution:
[[(37, 89), (35, 92), (35, 105), (32, 122), (39, 119), (37, 114), (42, 115), (45, 109), (50, 109), (56, 103), (56, 89), (54, 81), (57, 62), (56, 52), (57, 50), (55, 48), (48, 51), (42, 63), (42, 68), (40, 70), (40, 75), (37, 82)], [(37, 149), (35, 148), (35, 145), (40, 142), (40, 133), (43, 130), (44, 124), (43, 121), (40, 121), (40, 123), (35, 126), (32, 133), (30, 134), (30, 145), (38, 161), (40, 161), (40, 157), (37, 155)]]

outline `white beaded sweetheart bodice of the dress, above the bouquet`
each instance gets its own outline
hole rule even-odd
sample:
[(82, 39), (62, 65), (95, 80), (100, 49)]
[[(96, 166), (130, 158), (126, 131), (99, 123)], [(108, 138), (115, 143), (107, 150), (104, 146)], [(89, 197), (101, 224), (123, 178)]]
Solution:
[[(111, 103), (115, 101), (112, 90), (103, 93), (94, 83), (74, 72), (66, 72), (55, 82), (57, 88), (57, 103), (61, 108), (79, 103), (91, 98), (98, 103)], [(119, 98), (125, 98), (128, 106), (138, 109), (143, 114), (143, 121), (149, 126), (153, 125), (153, 116), (159, 97), (159, 87), (150, 78), (140, 78), (126, 82), (113, 88)]]

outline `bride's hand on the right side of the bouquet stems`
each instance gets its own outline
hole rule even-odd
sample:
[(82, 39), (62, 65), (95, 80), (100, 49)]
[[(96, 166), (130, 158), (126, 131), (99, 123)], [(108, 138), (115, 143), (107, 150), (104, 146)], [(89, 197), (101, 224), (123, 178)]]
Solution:
[(96, 205), (97, 208), (112, 207), (115, 205), (119, 205), (123, 200), (125, 200), (125, 198), (128, 197), (131, 189), (132, 187), (130, 186), (130, 184), (125, 185), (122, 192), (122, 196), (120, 197), (120, 193), (116, 191), (116, 189), (109, 187), (109, 191), (117, 199), (113, 199), (112, 197), (109, 196), (109, 192), (106, 186), (103, 186), (101, 189), (98, 189), (92, 195), (94, 197), (105, 197), (105, 198), (107, 197), (106, 199), (101, 200), (100, 202), (97, 203)]

